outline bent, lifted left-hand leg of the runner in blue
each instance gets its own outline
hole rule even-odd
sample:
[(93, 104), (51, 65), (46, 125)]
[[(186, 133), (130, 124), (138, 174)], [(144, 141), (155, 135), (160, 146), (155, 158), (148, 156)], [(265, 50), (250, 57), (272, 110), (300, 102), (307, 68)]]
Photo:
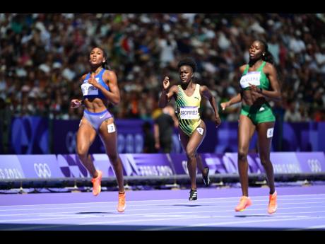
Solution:
[(91, 126), (90, 122), (83, 117), (77, 132), (77, 154), (93, 178), (98, 177), (98, 172), (95, 169), (93, 160), (88, 156), (88, 151), (95, 140), (95, 136), (95, 129)]

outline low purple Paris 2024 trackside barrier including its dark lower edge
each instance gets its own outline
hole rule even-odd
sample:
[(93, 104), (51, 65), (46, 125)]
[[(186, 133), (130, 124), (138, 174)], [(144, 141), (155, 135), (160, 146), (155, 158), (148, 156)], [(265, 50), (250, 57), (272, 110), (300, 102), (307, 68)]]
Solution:
[[(214, 182), (238, 182), (237, 153), (200, 153)], [(110, 159), (104, 153), (90, 154), (103, 182), (116, 185)], [(184, 153), (121, 153), (126, 184), (177, 184), (189, 180)], [(272, 152), (276, 180), (325, 180), (324, 152)], [(249, 153), (249, 177), (265, 180), (259, 155)], [(201, 177), (198, 170), (198, 179)], [(72, 154), (0, 155), (0, 188), (66, 187), (90, 185), (90, 174)]]

